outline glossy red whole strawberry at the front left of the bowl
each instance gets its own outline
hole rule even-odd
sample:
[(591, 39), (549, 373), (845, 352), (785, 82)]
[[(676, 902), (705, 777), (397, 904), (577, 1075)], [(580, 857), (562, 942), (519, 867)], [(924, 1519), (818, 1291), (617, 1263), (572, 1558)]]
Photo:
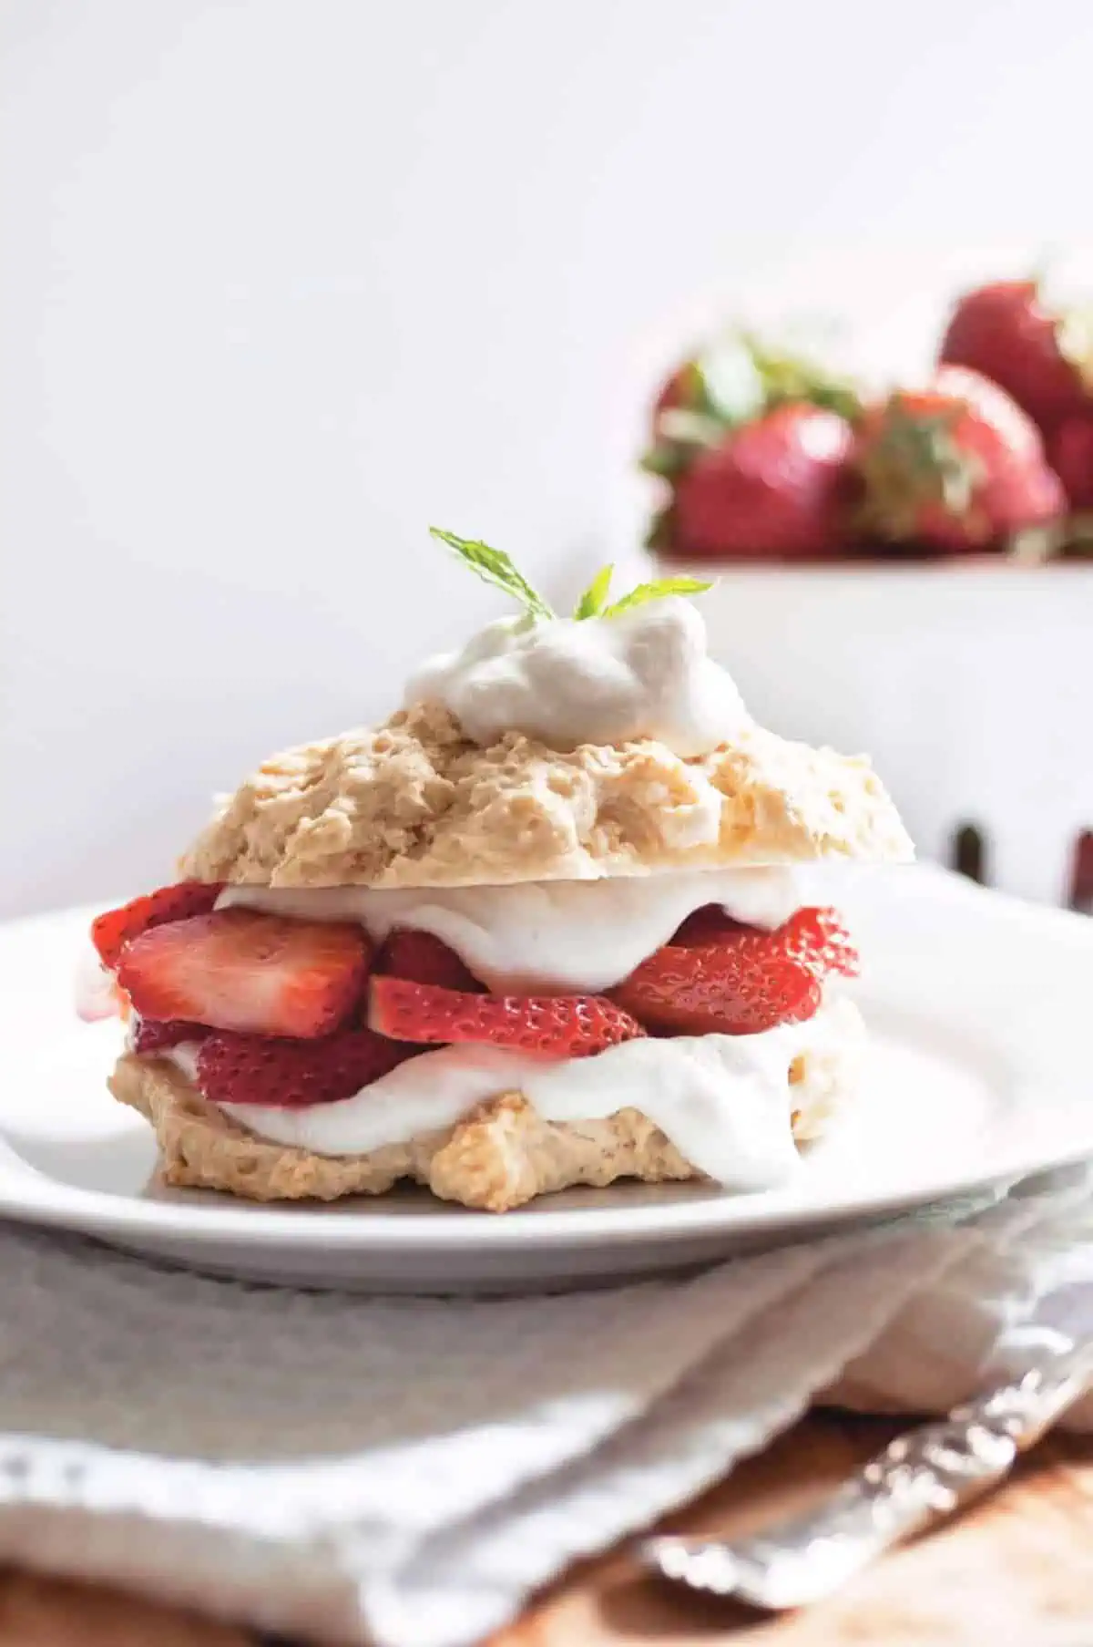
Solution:
[(670, 552), (695, 560), (812, 560), (846, 544), (846, 418), (802, 402), (728, 430), (675, 483)]

